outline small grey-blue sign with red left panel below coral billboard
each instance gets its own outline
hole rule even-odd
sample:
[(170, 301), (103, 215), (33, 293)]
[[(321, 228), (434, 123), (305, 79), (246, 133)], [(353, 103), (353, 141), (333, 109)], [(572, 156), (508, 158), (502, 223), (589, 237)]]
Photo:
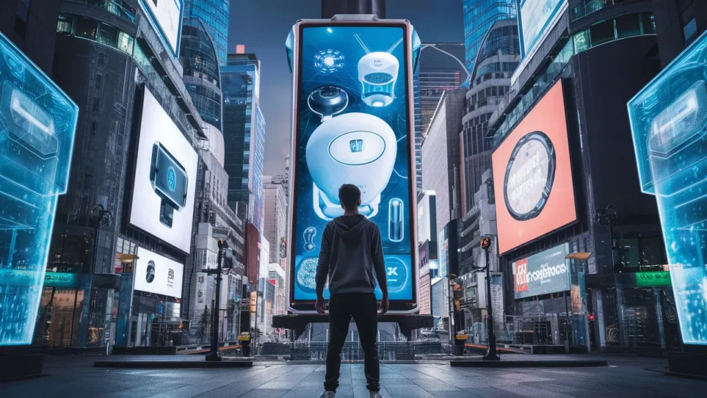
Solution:
[(515, 261), (511, 265), (515, 298), (570, 290), (570, 265), (565, 258), (569, 249), (569, 244), (562, 244)]

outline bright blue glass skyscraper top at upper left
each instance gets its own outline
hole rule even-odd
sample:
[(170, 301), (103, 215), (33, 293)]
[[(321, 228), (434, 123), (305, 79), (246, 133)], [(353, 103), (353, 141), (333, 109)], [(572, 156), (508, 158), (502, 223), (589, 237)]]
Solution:
[(214, 40), (218, 64), (226, 64), (230, 0), (186, 0), (184, 17), (199, 18)]

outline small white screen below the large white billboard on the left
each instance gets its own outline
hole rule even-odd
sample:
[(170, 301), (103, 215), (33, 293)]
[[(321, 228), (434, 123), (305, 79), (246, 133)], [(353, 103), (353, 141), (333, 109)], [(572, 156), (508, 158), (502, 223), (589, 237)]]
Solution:
[(135, 260), (135, 290), (182, 298), (184, 264), (170, 260), (142, 247), (137, 248)]

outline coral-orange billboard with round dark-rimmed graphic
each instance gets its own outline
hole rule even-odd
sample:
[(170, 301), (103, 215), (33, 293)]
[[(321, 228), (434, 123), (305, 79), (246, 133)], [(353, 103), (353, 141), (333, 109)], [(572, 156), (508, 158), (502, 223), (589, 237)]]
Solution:
[(562, 84), (558, 81), (491, 155), (498, 251), (577, 220)]

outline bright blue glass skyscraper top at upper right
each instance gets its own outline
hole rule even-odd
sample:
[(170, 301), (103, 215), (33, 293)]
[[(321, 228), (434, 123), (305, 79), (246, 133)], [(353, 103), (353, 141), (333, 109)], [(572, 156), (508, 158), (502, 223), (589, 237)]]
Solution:
[(464, 0), (464, 47), (469, 73), (474, 69), (481, 40), (491, 25), (515, 16), (515, 0)]

